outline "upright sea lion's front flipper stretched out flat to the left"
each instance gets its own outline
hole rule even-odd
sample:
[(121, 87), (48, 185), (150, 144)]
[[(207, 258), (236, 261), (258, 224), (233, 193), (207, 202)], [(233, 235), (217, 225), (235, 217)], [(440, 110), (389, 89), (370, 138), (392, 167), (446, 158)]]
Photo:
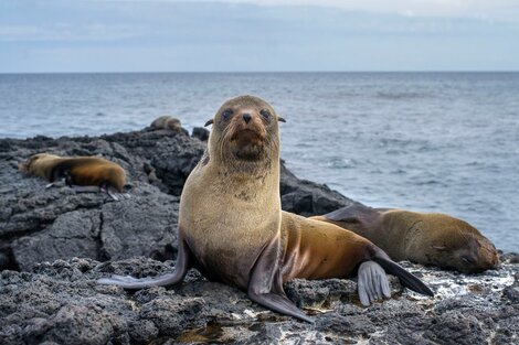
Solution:
[(112, 276), (110, 278), (100, 278), (97, 280), (98, 284), (115, 284), (127, 290), (137, 290), (149, 287), (166, 287), (173, 285), (183, 280), (183, 277), (190, 268), (191, 250), (189, 249), (186, 241), (179, 238), (179, 251), (177, 256), (177, 265), (174, 266), (174, 272), (159, 276), (159, 277), (147, 277), (147, 278), (134, 278), (130, 276)]

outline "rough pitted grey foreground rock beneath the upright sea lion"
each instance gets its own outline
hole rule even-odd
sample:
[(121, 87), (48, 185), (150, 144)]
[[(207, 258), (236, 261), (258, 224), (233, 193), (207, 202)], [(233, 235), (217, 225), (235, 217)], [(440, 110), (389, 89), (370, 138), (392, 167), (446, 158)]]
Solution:
[(149, 258), (40, 263), (0, 276), (1, 344), (517, 344), (519, 265), (476, 276), (403, 263), (432, 287), (434, 299), (402, 291), (363, 308), (349, 280), (295, 280), (288, 295), (315, 324), (266, 311), (244, 292), (209, 282), (195, 270), (172, 288), (127, 292), (97, 285), (112, 273), (170, 272)]

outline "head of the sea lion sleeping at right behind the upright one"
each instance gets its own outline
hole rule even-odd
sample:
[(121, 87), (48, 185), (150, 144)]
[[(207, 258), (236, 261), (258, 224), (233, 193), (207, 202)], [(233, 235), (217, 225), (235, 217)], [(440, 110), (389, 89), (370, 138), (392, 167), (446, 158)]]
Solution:
[(426, 214), (424, 220), (416, 226), (428, 236), (431, 245), (424, 252), (430, 255), (433, 263), (467, 273), (498, 265), (496, 247), (470, 224), (444, 214)]

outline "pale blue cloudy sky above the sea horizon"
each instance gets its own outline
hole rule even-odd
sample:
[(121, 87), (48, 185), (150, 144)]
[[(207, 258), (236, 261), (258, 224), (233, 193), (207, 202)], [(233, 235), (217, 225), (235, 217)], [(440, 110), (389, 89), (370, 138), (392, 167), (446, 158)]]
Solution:
[(0, 0), (0, 73), (519, 71), (518, 0)]

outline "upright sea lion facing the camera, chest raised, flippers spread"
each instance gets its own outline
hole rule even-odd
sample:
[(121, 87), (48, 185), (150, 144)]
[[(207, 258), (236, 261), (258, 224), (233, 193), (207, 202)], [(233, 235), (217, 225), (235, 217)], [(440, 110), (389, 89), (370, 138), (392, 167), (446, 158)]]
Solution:
[(98, 282), (126, 289), (176, 284), (195, 267), (273, 311), (308, 322), (286, 297), (284, 282), (358, 276), (359, 297), (369, 304), (389, 297), (385, 269), (404, 285), (432, 295), (369, 240), (282, 213), (278, 121), (284, 120), (261, 98), (240, 96), (224, 103), (205, 123), (213, 125), (208, 149), (180, 197), (174, 272), (142, 279), (113, 276)]

